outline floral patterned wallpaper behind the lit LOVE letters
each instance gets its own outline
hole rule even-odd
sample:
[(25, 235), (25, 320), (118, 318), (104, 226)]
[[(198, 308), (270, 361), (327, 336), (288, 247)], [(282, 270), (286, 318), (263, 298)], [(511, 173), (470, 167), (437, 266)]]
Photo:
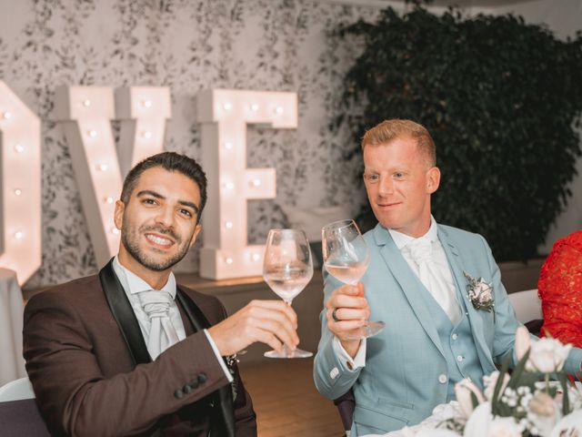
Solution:
[[(55, 122), (55, 89), (169, 86), (166, 149), (200, 158), (196, 93), (209, 87), (294, 91), (296, 130), (249, 129), (248, 167), (276, 168), (277, 197), (249, 204), (249, 240), (285, 225), (284, 207), (359, 208), (342, 132), (329, 123), (357, 42), (337, 25), (379, 10), (317, 0), (23, 0), (0, 2), (0, 79), (42, 125), (43, 265), (25, 288), (93, 274), (71, 158)], [(352, 46), (350, 46), (352, 45)], [(114, 122), (115, 127), (115, 122)], [(204, 238), (204, 235), (202, 236)], [(178, 266), (197, 270), (196, 247)]]

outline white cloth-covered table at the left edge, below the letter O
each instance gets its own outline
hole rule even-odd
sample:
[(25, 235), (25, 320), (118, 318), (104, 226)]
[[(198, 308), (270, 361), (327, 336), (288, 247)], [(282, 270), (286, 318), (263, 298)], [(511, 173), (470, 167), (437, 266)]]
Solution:
[(22, 358), (24, 310), (15, 271), (0, 269), (0, 386), (26, 376)]

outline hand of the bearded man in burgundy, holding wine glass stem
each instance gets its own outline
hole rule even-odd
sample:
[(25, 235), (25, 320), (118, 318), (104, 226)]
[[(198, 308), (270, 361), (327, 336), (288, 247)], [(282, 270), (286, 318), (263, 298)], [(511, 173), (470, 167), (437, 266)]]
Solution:
[(235, 314), (208, 328), (216, 348), (224, 357), (242, 351), (260, 341), (276, 351), (283, 344), (294, 351), (297, 337), (297, 315), (283, 300), (252, 300)]

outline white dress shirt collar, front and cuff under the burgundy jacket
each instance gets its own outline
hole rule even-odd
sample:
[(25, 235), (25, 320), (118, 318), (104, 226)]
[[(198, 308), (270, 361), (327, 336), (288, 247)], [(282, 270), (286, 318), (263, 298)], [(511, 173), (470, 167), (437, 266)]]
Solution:
[[(149, 317), (147, 317), (146, 311), (143, 309), (142, 304), (139, 301), (138, 293), (141, 291), (152, 290), (152, 287), (144, 279), (141, 279), (140, 277), (135, 275), (135, 273), (131, 272), (129, 269), (125, 269), (125, 267), (119, 263), (119, 259), (117, 259), (117, 256), (115, 256), (115, 259), (113, 260), (113, 269), (115, 271), (117, 279), (119, 279), (119, 282), (121, 282), (121, 285), (125, 290), (125, 295), (127, 296), (129, 303), (131, 304), (132, 310), (134, 310), (135, 319), (137, 319), (139, 329), (142, 331), (142, 335), (144, 336), (144, 340), (146, 341), (147, 344), (148, 342), (147, 340), (149, 340), (149, 332), (152, 326), (152, 322), (149, 320)], [(168, 277), (166, 284), (164, 285), (164, 287), (162, 287), (161, 290), (168, 292), (172, 296), (169, 317), (172, 322), (172, 325), (174, 326), (174, 329), (176, 330), (178, 340), (180, 341), (184, 340), (186, 339), (186, 330), (184, 330), (182, 316), (180, 315), (180, 310), (178, 309), (178, 306), (176, 304), (176, 277), (174, 276), (174, 273), (170, 273), (170, 276)], [(220, 364), (222, 370), (225, 372), (226, 378), (228, 379), (229, 382), (232, 382), (233, 377), (230, 374), (230, 371), (228, 371), (228, 369), (226, 368), (225, 361), (220, 356), (220, 352), (218, 351), (218, 348), (216, 348), (215, 341), (212, 340), (212, 337), (210, 336), (207, 330), (204, 330), (204, 332), (206, 334), (208, 342), (210, 343), (210, 346), (212, 347), (212, 350), (215, 352), (216, 360)], [(151, 355), (152, 351), (149, 352)]]

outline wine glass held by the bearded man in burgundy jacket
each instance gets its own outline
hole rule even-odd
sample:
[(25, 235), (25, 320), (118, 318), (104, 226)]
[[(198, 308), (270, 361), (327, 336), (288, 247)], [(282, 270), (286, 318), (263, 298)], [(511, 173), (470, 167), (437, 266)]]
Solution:
[[(266, 238), (263, 278), (276, 294), (291, 306), (293, 298), (305, 289), (313, 276), (313, 262), (306, 233), (298, 229), (271, 229)], [(268, 351), (268, 358), (306, 358), (312, 352), (296, 349)]]

